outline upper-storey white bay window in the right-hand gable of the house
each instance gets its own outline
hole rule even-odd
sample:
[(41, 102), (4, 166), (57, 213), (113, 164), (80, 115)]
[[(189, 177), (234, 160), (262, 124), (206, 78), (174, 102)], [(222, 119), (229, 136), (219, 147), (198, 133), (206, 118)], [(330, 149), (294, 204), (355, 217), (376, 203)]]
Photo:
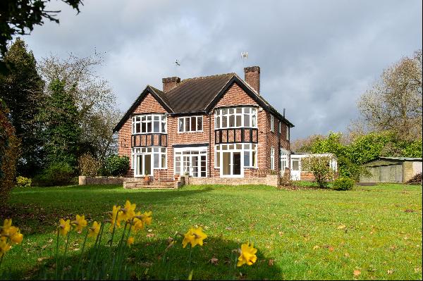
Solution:
[(252, 107), (221, 108), (214, 113), (215, 129), (257, 127), (257, 109)]

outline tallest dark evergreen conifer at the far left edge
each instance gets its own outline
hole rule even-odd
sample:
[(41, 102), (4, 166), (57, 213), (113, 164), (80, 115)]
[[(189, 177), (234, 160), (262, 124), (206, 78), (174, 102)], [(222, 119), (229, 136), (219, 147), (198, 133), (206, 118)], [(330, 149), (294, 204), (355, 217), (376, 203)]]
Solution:
[(37, 73), (32, 51), (18, 38), (3, 61), (13, 65), (7, 75), (0, 75), (0, 98), (10, 110), (11, 123), (22, 143), (18, 174), (34, 175), (43, 164), (42, 139), (36, 116), (43, 106), (44, 82)]

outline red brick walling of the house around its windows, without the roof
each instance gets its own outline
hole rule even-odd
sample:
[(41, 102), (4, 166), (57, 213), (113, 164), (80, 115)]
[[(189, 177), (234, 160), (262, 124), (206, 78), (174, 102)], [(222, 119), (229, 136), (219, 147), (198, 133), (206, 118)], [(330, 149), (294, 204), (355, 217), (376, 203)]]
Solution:
[[(248, 96), (243, 89), (235, 83), (229, 87), (227, 92), (223, 94), (221, 100), (216, 104), (215, 108), (221, 106), (240, 106), (240, 105), (254, 105), (258, 104)], [(148, 94), (141, 102), (134, 113), (166, 113), (166, 110), (157, 102), (151, 94)], [(211, 115), (203, 116), (203, 132), (178, 132), (178, 117), (168, 116), (167, 118), (167, 132), (168, 132), (168, 146), (167, 146), (167, 169), (154, 170), (154, 177), (160, 180), (173, 180), (173, 144), (200, 144), (209, 143), (207, 149), (207, 175), (212, 177), (220, 176), (220, 169), (214, 168), (214, 110)], [(270, 115), (264, 110), (257, 111), (258, 124), (258, 146), (257, 146), (257, 165), (258, 168), (245, 168), (245, 177), (265, 177), (270, 173), (270, 148), (275, 150), (275, 171), (279, 169), (278, 161), (278, 120), (274, 118), (274, 132), (270, 131)], [(118, 132), (118, 154), (131, 156), (130, 136), (131, 123), (129, 118)], [(289, 150), (289, 142), (286, 141), (286, 125), (282, 125), (281, 130), (281, 147)], [(209, 129), (211, 127), (211, 139)], [(132, 163), (131, 163), (132, 165)], [(210, 170), (209, 170), (210, 167)], [(133, 175), (133, 167), (131, 167), (128, 175)]]

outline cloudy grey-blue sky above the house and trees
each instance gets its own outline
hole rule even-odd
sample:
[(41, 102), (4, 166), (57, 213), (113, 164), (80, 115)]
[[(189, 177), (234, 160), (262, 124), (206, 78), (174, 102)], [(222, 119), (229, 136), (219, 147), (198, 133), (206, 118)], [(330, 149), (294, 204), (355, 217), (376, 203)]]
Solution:
[[(264, 98), (295, 127), (291, 139), (345, 132), (357, 99), (382, 71), (422, 49), (422, 1), (61, 1), (60, 24), (23, 39), (37, 60), (104, 56), (97, 69), (121, 111), (146, 85), (259, 65)], [(247, 51), (243, 60), (241, 52)], [(178, 60), (180, 66), (174, 62)]]

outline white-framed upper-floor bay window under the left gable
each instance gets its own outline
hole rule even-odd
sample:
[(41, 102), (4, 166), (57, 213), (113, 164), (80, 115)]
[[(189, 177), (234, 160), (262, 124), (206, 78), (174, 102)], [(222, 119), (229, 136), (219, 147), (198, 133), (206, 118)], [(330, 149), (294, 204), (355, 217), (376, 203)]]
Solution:
[(166, 132), (166, 115), (143, 114), (132, 118), (133, 134), (148, 134), (152, 132)]

